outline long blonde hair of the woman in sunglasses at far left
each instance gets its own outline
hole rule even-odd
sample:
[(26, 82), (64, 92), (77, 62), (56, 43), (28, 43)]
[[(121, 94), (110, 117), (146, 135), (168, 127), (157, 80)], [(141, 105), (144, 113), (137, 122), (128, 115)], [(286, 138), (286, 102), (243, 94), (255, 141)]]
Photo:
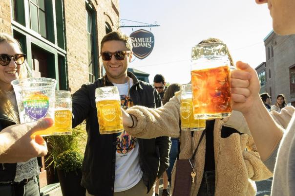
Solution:
[[(20, 43), (13, 38), (10, 35), (7, 34), (3, 34), (0, 33), (0, 43), (6, 41), (7, 43), (13, 43), (16, 46), (19, 47), (19, 49), (21, 50), (21, 45)], [(26, 60), (24, 61), (24, 63), (21, 65), (20, 68), (20, 78), (26, 78), (31, 76), (31, 70), (26, 62)], [(19, 123), (19, 115), (17, 112), (15, 112), (13, 104), (10, 100), (8, 100), (6, 92), (3, 91), (0, 87), (0, 112), (6, 114), (6, 116), (8, 118), (10, 118), (11, 120), (15, 121), (16, 123)]]

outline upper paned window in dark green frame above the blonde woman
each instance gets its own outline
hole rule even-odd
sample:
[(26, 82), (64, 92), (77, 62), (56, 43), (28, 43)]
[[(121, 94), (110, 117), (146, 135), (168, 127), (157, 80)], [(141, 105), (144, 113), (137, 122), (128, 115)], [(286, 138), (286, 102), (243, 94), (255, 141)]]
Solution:
[(29, 0), (30, 8), (30, 28), (42, 37), (47, 37), (46, 32), (46, 12), (44, 0)]

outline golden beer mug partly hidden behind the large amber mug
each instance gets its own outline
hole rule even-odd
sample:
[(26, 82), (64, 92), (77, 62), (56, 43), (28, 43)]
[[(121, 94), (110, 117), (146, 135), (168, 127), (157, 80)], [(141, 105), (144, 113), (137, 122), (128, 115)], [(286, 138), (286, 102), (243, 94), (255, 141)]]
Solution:
[(181, 130), (200, 131), (206, 128), (206, 120), (194, 119), (192, 112), (191, 84), (182, 85), (180, 98)]

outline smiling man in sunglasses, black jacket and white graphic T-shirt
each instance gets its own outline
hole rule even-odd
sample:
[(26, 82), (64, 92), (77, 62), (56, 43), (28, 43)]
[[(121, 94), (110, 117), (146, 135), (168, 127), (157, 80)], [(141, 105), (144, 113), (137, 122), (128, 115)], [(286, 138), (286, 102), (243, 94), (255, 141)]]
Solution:
[(132, 58), (130, 37), (111, 32), (101, 41), (105, 75), (73, 94), (73, 127), (86, 120), (87, 144), (82, 186), (86, 196), (152, 196), (157, 177), (169, 167), (169, 137), (137, 139), (127, 132), (100, 135), (95, 89), (116, 86), (121, 106), (162, 106), (158, 92), (127, 71)]

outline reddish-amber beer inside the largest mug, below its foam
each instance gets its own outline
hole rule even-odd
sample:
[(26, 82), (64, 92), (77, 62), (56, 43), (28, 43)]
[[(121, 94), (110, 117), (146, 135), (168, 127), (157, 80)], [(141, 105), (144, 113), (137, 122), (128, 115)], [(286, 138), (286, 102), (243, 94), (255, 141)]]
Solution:
[(191, 71), (195, 117), (227, 117), (232, 112), (229, 66)]

